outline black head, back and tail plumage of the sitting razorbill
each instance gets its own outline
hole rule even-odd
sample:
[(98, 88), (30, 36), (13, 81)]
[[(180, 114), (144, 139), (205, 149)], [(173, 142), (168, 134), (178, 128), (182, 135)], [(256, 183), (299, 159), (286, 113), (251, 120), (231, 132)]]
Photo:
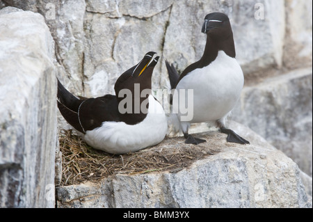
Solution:
[[(149, 52), (140, 63), (120, 75), (115, 83), (115, 94), (123, 88), (132, 90), (135, 83), (141, 87), (150, 88), (151, 77), (154, 66), (157, 65), (157, 58), (151, 61), (154, 52)], [(148, 63), (150, 63), (148, 65)], [(139, 77), (139, 75), (142, 76)], [(134, 95), (134, 92), (133, 92)], [(77, 131), (86, 133), (88, 130), (101, 127), (103, 122), (125, 122), (129, 125), (142, 121), (147, 113), (120, 113), (118, 104), (122, 98), (115, 95), (104, 95), (103, 97), (79, 99), (72, 95), (58, 80), (58, 109), (67, 122)]]

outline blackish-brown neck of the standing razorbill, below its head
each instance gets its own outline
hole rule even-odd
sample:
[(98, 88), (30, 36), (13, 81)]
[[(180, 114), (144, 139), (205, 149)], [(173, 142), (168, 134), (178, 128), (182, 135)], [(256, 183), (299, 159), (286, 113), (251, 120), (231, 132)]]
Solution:
[(227, 56), (232, 58), (236, 57), (232, 33), (223, 39), (213, 38), (211, 35), (207, 35), (207, 43), (204, 48), (204, 53), (199, 61), (200, 65), (205, 67), (213, 62), (218, 56), (218, 51), (224, 51)]

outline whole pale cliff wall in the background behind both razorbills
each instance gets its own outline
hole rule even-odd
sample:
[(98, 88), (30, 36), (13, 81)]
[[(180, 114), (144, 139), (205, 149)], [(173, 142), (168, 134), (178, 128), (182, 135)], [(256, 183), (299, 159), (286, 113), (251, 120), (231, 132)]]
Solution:
[[(161, 56), (154, 70), (153, 89), (169, 87), (164, 59), (174, 62), (179, 72), (197, 61), (205, 44), (205, 35), (200, 33), (204, 16), (212, 11), (227, 13), (234, 31), (236, 58), (248, 86), (243, 90), (241, 103), (232, 118), (264, 136), (312, 176), (312, 75), (310, 77), (307, 71), (303, 73), (306, 68), (312, 70), (312, 1), (260, 0), (257, 3), (256, 8), (256, 2), (252, 0), (147, 0), (145, 4), (136, 0), (0, 0), (0, 9), (15, 6), (40, 13), (45, 18), (55, 42), (55, 51), (51, 49), (49, 53), (55, 54), (58, 61), (58, 77), (72, 93), (84, 96), (113, 93), (113, 84), (119, 74), (150, 50)], [(12, 8), (3, 9), (2, 13), (6, 10)], [(259, 19), (255, 15), (260, 16)], [(32, 33), (37, 33), (35, 27), (29, 28)], [(4, 36), (3, 32), (0, 36)], [(44, 45), (49, 48), (50, 44)], [(9, 54), (10, 47), (16, 48), (14, 42), (5, 42), (4, 45), (0, 50), (8, 49)], [(6, 60), (3, 63), (6, 64)], [(273, 79), (276, 76), (278, 79)], [(26, 85), (31, 86), (28, 81), (25, 81)], [(52, 86), (53, 81), (49, 80), (49, 85)], [(43, 83), (40, 81), (38, 85), (43, 87)], [(34, 104), (30, 103), (29, 109)], [(4, 116), (0, 118), (9, 120)], [(63, 118), (58, 123), (65, 127)], [(16, 138), (21, 135), (12, 133)], [(16, 158), (22, 158), (21, 155)], [(12, 155), (12, 158), (15, 157)], [(22, 172), (16, 170), (14, 164), (1, 165), (1, 171), (2, 166)], [(60, 170), (58, 167), (58, 174)], [(21, 175), (16, 177), (21, 178)], [(312, 187), (312, 177), (307, 177), (307, 181)], [(10, 187), (20, 190), (18, 184)], [(26, 199), (21, 201), (21, 205), (23, 201), (25, 203)]]

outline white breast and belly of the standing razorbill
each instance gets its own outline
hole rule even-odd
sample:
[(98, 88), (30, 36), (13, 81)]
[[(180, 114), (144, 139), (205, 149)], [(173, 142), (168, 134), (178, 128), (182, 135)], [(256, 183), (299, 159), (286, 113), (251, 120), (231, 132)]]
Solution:
[[(193, 107), (188, 102), (188, 111), (193, 111), (193, 118), (188, 122), (219, 120), (234, 108), (242, 88), (243, 72), (240, 65), (235, 58), (218, 51), (215, 61), (207, 67), (193, 70), (179, 81), (173, 104), (179, 104), (179, 96), (184, 96), (179, 89), (193, 89)], [(184, 116), (181, 109), (178, 113), (179, 117)]]

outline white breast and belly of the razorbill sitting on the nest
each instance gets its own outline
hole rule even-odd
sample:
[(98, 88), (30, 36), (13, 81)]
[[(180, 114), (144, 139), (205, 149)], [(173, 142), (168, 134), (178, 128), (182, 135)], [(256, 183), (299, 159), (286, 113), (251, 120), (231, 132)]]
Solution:
[(149, 96), (147, 116), (136, 125), (125, 122), (104, 122), (87, 131), (84, 140), (93, 148), (112, 154), (125, 154), (157, 145), (166, 136), (168, 125), (163, 107)]

